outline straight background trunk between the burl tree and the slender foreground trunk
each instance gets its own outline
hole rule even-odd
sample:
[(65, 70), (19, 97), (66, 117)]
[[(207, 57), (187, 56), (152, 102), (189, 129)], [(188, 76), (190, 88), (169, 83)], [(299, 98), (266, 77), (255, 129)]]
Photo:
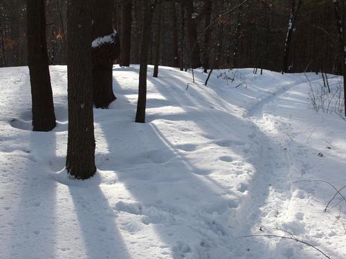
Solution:
[(120, 66), (129, 66), (131, 52), (132, 1), (122, 1)]

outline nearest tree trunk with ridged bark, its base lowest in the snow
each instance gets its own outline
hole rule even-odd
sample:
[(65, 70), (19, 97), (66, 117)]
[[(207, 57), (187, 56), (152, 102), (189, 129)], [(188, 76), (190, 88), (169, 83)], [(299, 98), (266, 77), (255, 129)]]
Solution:
[(77, 179), (95, 174), (93, 86), (91, 74), (91, 6), (70, 0), (67, 17), (69, 135), (66, 170)]

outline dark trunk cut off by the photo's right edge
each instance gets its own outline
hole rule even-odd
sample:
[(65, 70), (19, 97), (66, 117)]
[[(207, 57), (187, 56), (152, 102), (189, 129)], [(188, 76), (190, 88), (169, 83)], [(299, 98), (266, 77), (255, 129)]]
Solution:
[[(338, 0), (334, 1), (334, 9), (335, 9), (335, 15), (336, 15), (336, 21), (338, 23), (338, 38), (339, 38), (339, 44), (340, 44), (340, 50), (343, 53), (343, 77), (344, 77), (344, 110), (345, 110), (345, 116), (346, 116), (346, 33), (343, 23), (343, 10), (340, 8)], [(345, 6), (343, 6), (345, 8)]]

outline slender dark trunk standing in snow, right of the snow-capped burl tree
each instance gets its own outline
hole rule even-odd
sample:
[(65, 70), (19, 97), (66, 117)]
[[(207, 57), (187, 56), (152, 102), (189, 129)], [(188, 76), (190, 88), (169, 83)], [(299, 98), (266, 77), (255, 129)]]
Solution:
[(140, 69), (138, 84), (138, 102), (136, 112), (136, 122), (145, 122), (145, 106), (147, 104), (147, 66), (149, 54), (149, 42), (152, 30), (152, 17), (156, 1), (146, 1), (143, 3), (143, 30), (142, 30), (142, 47), (140, 50)]

